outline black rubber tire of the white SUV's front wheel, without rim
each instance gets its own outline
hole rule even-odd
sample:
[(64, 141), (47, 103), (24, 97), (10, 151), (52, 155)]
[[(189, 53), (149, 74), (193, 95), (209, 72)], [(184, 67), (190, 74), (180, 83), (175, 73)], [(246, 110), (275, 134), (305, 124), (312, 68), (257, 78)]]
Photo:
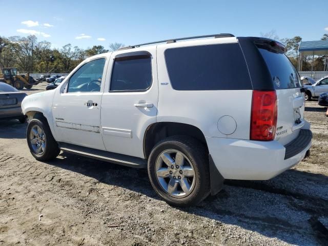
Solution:
[[(40, 127), (44, 133), (45, 133), (45, 139), (46, 139), (46, 146), (45, 150), (41, 154), (36, 154), (32, 148), (32, 144), (30, 142), (30, 133), (33, 126)], [(60, 152), (58, 148), (58, 144), (56, 140), (53, 138), (52, 133), (50, 131), (48, 122), (45, 118), (37, 118), (32, 119), (28, 126), (26, 131), (26, 138), (27, 138), (27, 144), (30, 148), (31, 154), (34, 156), (35, 159), (40, 161), (48, 161), (56, 158)]]

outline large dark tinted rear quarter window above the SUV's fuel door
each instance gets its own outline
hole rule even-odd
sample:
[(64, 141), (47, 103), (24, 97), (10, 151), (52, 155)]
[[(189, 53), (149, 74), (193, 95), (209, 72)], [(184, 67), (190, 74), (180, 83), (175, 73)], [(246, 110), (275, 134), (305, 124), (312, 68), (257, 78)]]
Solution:
[(252, 90), (238, 44), (167, 49), (165, 59), (175, 90)]

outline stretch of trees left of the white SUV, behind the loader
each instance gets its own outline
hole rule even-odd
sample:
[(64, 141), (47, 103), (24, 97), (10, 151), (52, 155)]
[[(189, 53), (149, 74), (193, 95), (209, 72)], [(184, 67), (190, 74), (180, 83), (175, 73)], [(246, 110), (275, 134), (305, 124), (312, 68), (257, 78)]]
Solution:
[(69, 73), (87, 57), (115, 51), (122, 46), (112, 43), (107, 50), (101, 45), (81, 49), (67, 44), (54, 49), (48, 41), (37, 42), (35, 35), (0, 37), (0, 68), (14, 67), (20, 73)]

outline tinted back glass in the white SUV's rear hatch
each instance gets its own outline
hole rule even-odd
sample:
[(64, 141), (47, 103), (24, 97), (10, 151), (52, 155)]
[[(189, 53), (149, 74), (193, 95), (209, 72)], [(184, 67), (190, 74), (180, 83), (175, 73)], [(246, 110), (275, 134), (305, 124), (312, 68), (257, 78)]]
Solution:
[(267, 64), (276, 89), (301, 87), (298, 73), (288, 57), (269, 49), (258, 49)]

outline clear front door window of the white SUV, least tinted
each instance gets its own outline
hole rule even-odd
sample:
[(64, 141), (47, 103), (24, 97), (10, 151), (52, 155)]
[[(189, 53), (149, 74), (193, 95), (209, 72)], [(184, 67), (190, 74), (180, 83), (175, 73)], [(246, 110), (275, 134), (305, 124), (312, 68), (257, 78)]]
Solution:
[(69, 79), (67, 92), (99, 92), (105, 58), (91, 60), (81, 66)]

